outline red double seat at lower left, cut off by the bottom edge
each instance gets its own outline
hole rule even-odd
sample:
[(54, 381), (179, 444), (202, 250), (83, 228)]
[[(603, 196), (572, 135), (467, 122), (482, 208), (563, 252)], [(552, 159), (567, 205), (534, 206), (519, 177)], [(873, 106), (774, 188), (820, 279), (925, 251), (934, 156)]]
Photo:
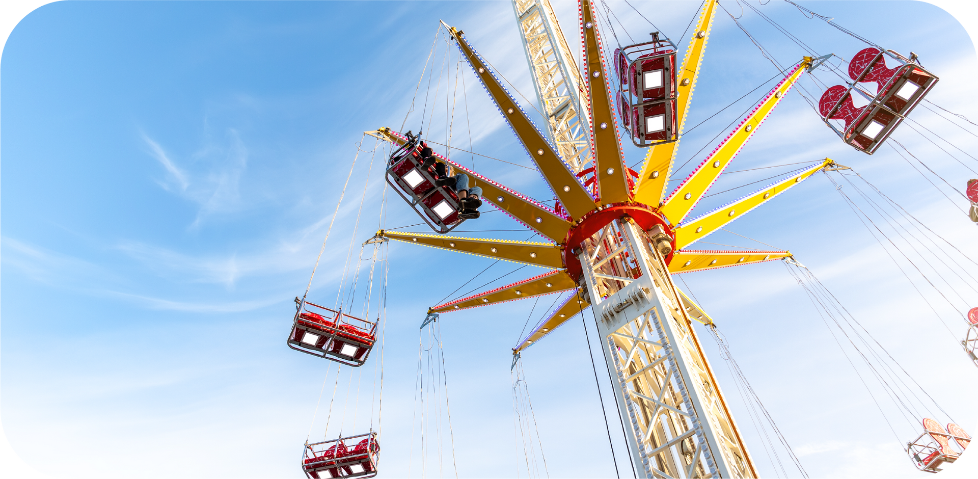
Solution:
[(302, 471), (310, 479), (366, 479), (377, 475), (379, 452), (376, 432), (306, 443), (302, 451)]

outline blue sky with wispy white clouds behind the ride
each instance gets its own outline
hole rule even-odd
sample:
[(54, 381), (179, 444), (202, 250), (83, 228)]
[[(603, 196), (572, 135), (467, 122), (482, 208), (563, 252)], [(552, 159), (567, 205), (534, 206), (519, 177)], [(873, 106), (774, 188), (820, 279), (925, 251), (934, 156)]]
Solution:
[[(576, 4), (554, 3), (574, 44)], [(638, 38), (651, 31), (625, 2), (607, 3), (621, 21), (615, 22), (615, 33), (622, 43), (629, 33)], [(698, 2), (631, 3), (681, 48), (685, 45), (679, 37)], [(734, 16), (740, 12), (735, 2), (723, 5)], [(782, 2), (752, 5), (820, 53), (848, 58), (863, 48)], [(804, 5), (887, 48), (917, 53), (941, 77), (930, 100), (978, 117), (972, 95), (978, 73), (975, 45), (944, 9), (920, 0), (885, 2), (885, 8), (883, 2)], [(906, 27), (908, 18), (914, 21), (912, 29)], [(418, 131), (418, 110), (423, 110), (430, 115), (424, 129), (431, 140), (448, 143), (444, 139), (451, 123), (456, 148), (467, 149), (471, 142), (475, 152), (531, 166), (467, 66), (456, 64), (454, 47), (444, 37), (436, 39), (439, 19), (464, 29), (475, 48), (535, 102), (511, 4), (500, 0), (288, 6), (56, 0), (18, 22), (0, 55), (0, 322), (5, 330), (0, 335), (0, 423), (25, 463), (57, 478), (122, 477), (133, 470), (147, 478), (174, 473), (299, 477), (302, 443), (310, 429), (312, 439), (323, 437), (327, 415), (333, 421), (331, 436), (338, 433), (337, 417), (344, 417), (344, 432), (381, 427), (378, 418), (371, 418), (379, 414), (373, 406), (379, 400), (379, 354), (361, 370), (340, 372), (329, 413), (332, 384), (317, 407), (328, 362), (285, 345), (294, 311), (291, 298), (309, 282), (356, 142), (364, 130), (399, 128), (405, 121), (434, 40), (432, 58), (444, 71), (443, 83), (439, 86), (436, 76), (430, 89), (422, 84), (405, 129)], [(741, 22), (782, 63), (803, 55), (749, 9)], [(602, 34), (612, 44), (614, 35)], [(465, 88), (455, 86), (455, 71), (467, 75)], [(776, 73), (719, 12), (688, 125)], [(823, 73), (821, 78), (831, 81)], [(814, 91), (810, 80), (802, 84)], [(677, 176), (685, 177), (712, 150), (714, 135), (767, 88), (689, 132), (678, 157), (692, 161)], [(455, 99), (452, 121), (446, 120), (451, 115), (448, 95)], [(973, 134), (934, 113), (917, 109), (911, 118), (973, 151)], [(978, 161), (955, 152), (958, 162), (906, 127), (893, 138), (957, 188), (978, 177), (969, 171), (978, 170)], [(703, 147), (706, 151), (693, 154)], [(351, 239), (359, 244), (380, 225), (420, 222), (390, 192), (386, 217), (379, 217), (383, 149), (373, 156), (375, 142), (369, 137), (361, 149), (366, 152), (357, 160), (313, 282), (313, 301), (335, 296)], [(630, 164), (642, 154), (626, 147)], [(464, 152), (451, 155), (529, 196), (551, 197), (539, 176), (523, 167)], [(889, 147), (867, 156), (842, 145), (797, 89), (739, 153), (732, 169), (815, 162), (825, 156), (853, 166), (935, 234), (978, 257), (975, 226), (956, 209), (962, 207), (959, 196), (942, 185), (952, 200), (943, 196)], [(714, 190), (790, 169), (724, 175)], [(973, 429), (978, 414), (969, 398), (978, 393), (976, 370), (953, 337), (963, 337), (962, 322), (941, 304), (939, 316), (952, 331), (941, 326), (823, 176), (729, 229), (794, 252), (946, 411)], [(710, 197), (697, 211), (750, 191)], [(501, 213), (483, 209), (487, 212), (473, 229), (522, 230)], [(466, 235), (530, 237), (522, 231)], [(730, 234), (710, 238), (757, 246)], [(910, 268), (901, 261), (897, 264)], [(413, 467), (410, 475), (416, 477), (420, 433), (412, 427), (419, 424), (419, 412), (433, 408), (430, 400), (420, 406), (416, 395), (423, 312), (456, 289), (460, 279), (464, 283), (491, 262), (394, 244), (388, 264), (381, 473), (403, 475)], [(950, 270), (936, 268), (930, 278), (950, 278)], [(978, 274), (973, 264), (963, 268)], [(514, 269), (496, 265), (485, 282)], [(499, 283), (540, 272), (526, 267)], [(813, 477), (921, 476), (783, 266), (766, 263), (682, 278), (680, 286), (687, 286), (720, 325)], [(973, 286), (953, 279), (943, 290), (961, 291), (959, 304), (978, 306)], [(936, 294), (928, 290), (925, 295), (938, 304)], [(513, 444), (510, 348), (523, 325), (538, 321), (552, 302), (553, 297), (544, 297), (536, 306), (532, 300), (507, 303), (440, 320), (460, 477), (521, 470), (522, 453)], [(586, 320), (592, 317), (586, 314)], [(729, 381), (715, 345), (700, 333), (714, 368), (726, 378), (722, 381)], [(427, 344), (428, 337), (423, 340)], [(601, 387), (607, 388), (598, 367)], [(527, 350), (523, 368), (549, 472), (609, 474), (613, 465), (580, 318)], [(333, 382), (334, 376), (328, 379)], [(722, 385), (762, 475), (774, 477), (733, 383)], [(918, 432), (899, 413), (886, 411), (886, 417), (904, 441)], [(426, 434), (426, 440), (435, 441), (436, 432)], [(592, 459), (582, 463), (585, 456)], [(148, 465), (146, 457), (167, 459)], [(619, 461), (627, 467), (620, 456)], [(444, 475), (452, 475), (451, 461), (443, 462)]]

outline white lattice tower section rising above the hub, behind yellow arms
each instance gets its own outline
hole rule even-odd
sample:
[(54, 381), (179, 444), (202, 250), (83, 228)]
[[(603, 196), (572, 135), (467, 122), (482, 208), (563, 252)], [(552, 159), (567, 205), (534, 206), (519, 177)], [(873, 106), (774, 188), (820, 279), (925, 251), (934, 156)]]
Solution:
[(550, 0), (512, 0), (537, 99), (547, 114), (547, 127), (557, 152), (580, 172), (590, 156), (586, 105), (579, 88), (584, 82), (560, 31)]

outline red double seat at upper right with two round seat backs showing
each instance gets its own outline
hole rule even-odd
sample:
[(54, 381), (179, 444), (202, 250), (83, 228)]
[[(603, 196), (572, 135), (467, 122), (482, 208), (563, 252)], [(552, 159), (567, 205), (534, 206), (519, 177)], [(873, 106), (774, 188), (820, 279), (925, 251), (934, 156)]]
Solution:
[[(887, 58), (898, 65), (887, 67)], [(868, 154), (876, 152), (939, 79), (893, 50), (873, 47), (861, 50), (853, 57), (849, 63), (849, 76), (853, 82), (848, 88), (835, 85), (822, 93), (819, 112), (825, 124), (842, 141)], [(875, 93), (861, 83), (874, 83)], [(852, 101), (853, 92), (862, 95), (869, 104), (856, 108)], [(828, 121), (830, 119), (840, 120), (845, 126), (839, 129)]]

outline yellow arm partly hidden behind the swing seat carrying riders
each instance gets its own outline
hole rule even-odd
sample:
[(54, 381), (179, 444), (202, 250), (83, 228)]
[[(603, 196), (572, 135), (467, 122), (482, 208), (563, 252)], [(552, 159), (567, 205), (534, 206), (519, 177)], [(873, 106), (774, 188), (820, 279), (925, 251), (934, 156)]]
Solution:
[[(403, 135), (391, 131), (390, 128), (386, 127), (365, 133), (397, 146), (404, 145), (408, 141)], [(570, 222), (557, 216), (552, 209), (546, 207), (543, 203), (527, 196), (522, 196), (441, 154), (435, 153), (435, 156), (445, 163), (451, 164), (456, 171), (466, 173), (468, 175), (469, 186), (482, 188), (483, 199), (488, 200), (497, 208), (505, 211), (506, 214), (539, 233), (544, 238), (562, 243), (567, 236), (567, 231), (571, 227)]]

